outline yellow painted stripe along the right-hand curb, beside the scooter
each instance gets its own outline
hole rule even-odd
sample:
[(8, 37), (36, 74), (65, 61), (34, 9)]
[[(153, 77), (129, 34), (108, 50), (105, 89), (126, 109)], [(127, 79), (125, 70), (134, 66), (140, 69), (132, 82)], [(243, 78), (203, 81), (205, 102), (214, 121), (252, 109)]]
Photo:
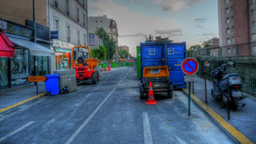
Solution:
[[(185, 93), (188, 95), (188, 90), (183, 89)], [(220, 115), (218, 115), (213, 109), (211, 109), (208, 105), (202, 102), (197, 96), (193, 93), (190, 93), (191, 98), (197, 102), (209, 115), (212, 116), (223, 128), (225, 128), (230, 134), (237, 139), (241, 144), (253, 144), (247, 137), (245, 137), (241, 132), (239, 132), (236, 128), (234, 128), (230, 123), (226, 122)]]

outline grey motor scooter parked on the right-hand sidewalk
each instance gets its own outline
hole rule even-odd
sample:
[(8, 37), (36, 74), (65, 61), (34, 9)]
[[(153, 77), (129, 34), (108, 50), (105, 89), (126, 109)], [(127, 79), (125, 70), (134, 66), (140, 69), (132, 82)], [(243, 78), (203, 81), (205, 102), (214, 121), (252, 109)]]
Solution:
[[(245, 95), (241, 93), (242, 79), (238, 73), (228, 74), (227, 70), (227, 67), (234, 65), (234, 63), (224, 63), (224, 61), (217, 61), (216, 63), (218, 65), (216, 65), (215, 69), (211, 67), (213, 83), (213, 88), (211, 89), (212, 97), (218, 101), (223, 100), (225, 102), (223, 107), (226, 107), (228, 100), (233, 110), (236, 110), (238, 106), (243, 107), (245, 104), (238, 103), (238, 101), (245, 98)], [(210, 66), (210, 64), (208, 63), (206, 66)], [(226, 96), (228, 91), (230, 98)]]

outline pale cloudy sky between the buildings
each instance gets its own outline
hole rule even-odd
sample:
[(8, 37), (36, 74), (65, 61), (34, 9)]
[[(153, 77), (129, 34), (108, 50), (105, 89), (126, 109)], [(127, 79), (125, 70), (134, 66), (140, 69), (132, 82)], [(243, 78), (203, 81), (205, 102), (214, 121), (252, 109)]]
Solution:
[(88, 0), (88, 16), (103, 16), (117, 23), (119, 46), (136, 46), (149, 34), (186, 42), (186, 49), (219, 38), (218, 0)]

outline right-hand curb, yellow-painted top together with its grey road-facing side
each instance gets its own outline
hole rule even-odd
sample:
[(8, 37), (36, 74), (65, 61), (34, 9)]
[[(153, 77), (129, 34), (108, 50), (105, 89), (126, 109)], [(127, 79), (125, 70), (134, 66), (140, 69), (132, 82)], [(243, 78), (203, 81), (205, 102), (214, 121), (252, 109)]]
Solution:
[[(182, 89), (183, 93), (188, 95), (187, 89)], [(208, 105), (202, 102), (196, 95), (193, 93), (190, 94), (192, 98), (192, 102), (194, 102), (201, 111), (204, 112), (208, 116), (208, 118), (215, 123), (220, 130), (222, 130), (233, 142), (236, 144), (253, 144), (247, 137), (245, 137), (239, 130), (234, 128), (230, 123), (225, 121), (220, 115), (218, 115), (213, 109), (211, 109)]]

